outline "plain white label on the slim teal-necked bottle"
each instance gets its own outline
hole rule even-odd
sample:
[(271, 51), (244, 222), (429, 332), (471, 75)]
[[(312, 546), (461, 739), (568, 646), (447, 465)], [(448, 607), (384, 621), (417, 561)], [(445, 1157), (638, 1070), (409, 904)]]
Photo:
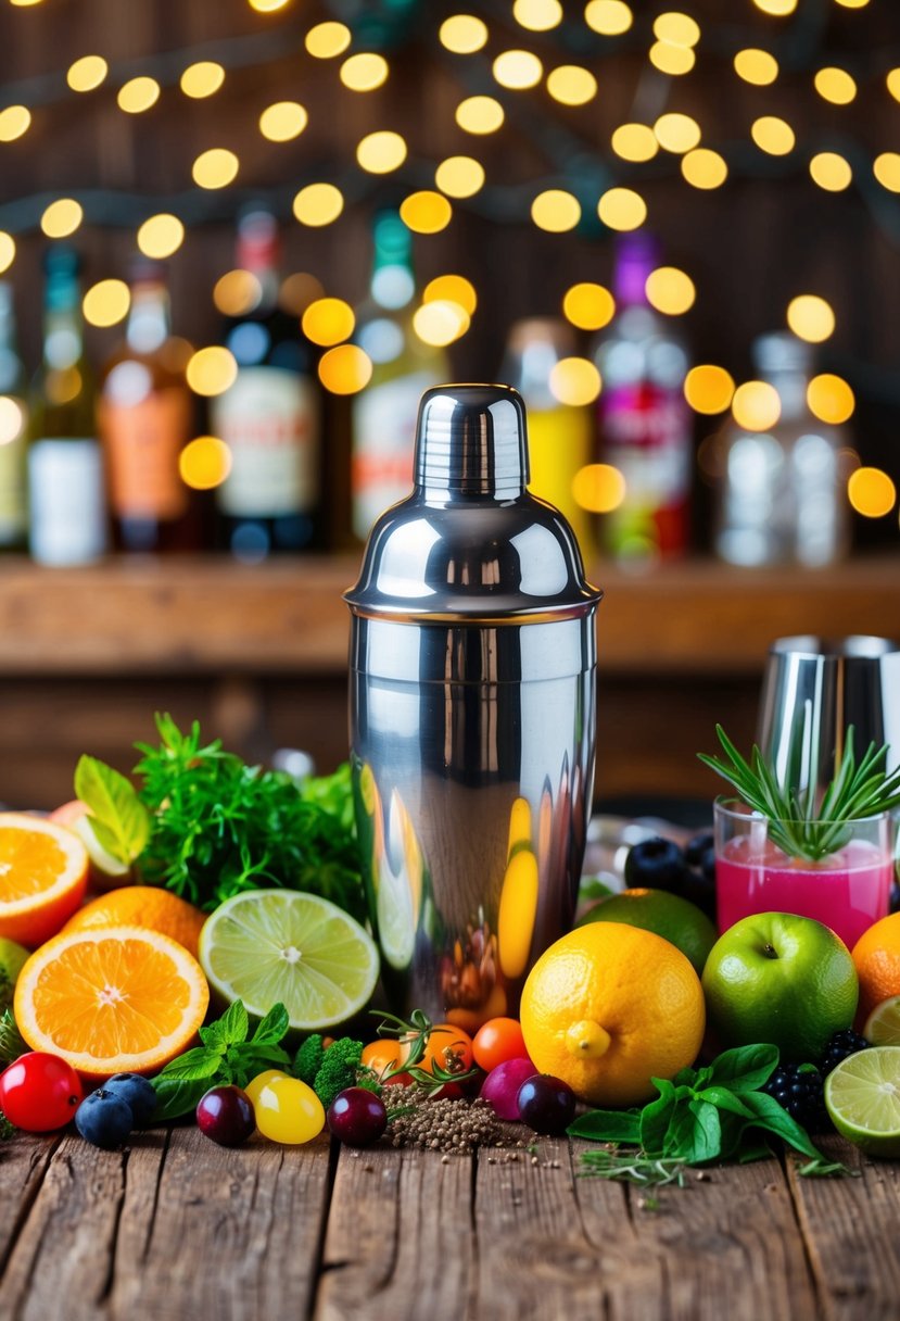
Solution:
[(107, 547), (96, 440), (36, 440), (28, 452), (30, 550), (38, 564), (87, 564)]

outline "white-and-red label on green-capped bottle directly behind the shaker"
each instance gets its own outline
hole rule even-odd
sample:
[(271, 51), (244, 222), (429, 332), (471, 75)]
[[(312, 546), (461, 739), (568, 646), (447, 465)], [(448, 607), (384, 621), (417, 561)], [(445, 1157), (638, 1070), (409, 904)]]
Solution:
[(418, 400), (434, 384), (428, 371), (370, 386), (355, 399), (351, 483), (354, 532), (364, 540), (388, 505), (413, 489)]

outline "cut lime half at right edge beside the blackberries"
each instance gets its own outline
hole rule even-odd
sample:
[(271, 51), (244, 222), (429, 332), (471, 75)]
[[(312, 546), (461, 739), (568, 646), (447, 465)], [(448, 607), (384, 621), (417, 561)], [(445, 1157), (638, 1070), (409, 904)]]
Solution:
[(900, 1156), (900, 1046), (871, 1046), (843, 1059), (825, 1079), (825, 1106), (856, 1147)]

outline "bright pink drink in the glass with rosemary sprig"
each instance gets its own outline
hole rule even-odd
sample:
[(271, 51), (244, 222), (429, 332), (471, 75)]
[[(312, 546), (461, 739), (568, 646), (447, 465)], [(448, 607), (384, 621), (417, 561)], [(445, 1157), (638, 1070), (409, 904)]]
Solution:
[(887, 915), (889, 852), (854, 839), (821, 863), (788, 857), (768, 840), (730, 839), (715, 857), (719, 931), (752, 913), (798, 913), (830, 926), (852, 948)]

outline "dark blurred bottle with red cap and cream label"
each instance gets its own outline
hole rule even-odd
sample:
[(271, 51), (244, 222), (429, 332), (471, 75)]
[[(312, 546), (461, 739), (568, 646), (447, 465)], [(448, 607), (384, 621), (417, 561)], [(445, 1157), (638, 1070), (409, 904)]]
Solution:
[(238, 379), (210, 402), (212, 432), (231, 450), (231, 472), (216, 487), (222, 540), (253, 561), (310, 550), (319, 535), (321, 387), (311, 345), (278, 305), (278, 256), (274, 217), (243, 215), (238, 266), (249, 292), (224, 333)]

